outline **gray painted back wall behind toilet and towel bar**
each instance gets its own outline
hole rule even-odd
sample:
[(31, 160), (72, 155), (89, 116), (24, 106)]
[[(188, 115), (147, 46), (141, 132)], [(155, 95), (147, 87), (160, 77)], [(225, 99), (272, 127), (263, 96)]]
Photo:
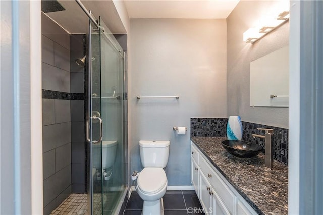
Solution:
[[(226, 20), (132, 19), (128, 105), (130, 171), (139, 140), (170, 140), (168, 185), (191, 185), (190, 118), (226, 117)], [(128, 35), (129, 36), (129, 35)], [(136, 96), (179, 95), (179, 99)], [(177, 135), (173, 126), (186, 126)]]

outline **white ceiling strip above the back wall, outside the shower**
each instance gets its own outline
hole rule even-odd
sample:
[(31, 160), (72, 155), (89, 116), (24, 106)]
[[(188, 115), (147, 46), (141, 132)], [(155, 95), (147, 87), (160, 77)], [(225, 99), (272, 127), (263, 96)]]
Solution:
[(126, 0), (129, 18), (226, 19), (239, 0)]

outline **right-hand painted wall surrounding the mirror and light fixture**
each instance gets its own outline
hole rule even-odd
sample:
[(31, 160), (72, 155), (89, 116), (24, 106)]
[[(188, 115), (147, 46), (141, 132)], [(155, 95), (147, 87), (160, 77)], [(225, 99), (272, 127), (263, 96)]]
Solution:
[(240, 1), (227, 18), (227, 117), (288, 128), (288, 108), (250, 107), (250, 62), (289, 42), (289, 23), (254, 44), (243, 41), (243, 33), (254, 27), (268, 8), (278, 1)]

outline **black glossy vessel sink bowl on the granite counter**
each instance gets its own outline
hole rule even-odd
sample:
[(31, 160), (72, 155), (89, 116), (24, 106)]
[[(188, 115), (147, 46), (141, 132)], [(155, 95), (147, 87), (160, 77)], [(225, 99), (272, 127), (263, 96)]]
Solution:
[(260, 145), (242, 140), (224, 140), (221, 144), (230, 154), (240, 158), (251, 158), (262, 151)]

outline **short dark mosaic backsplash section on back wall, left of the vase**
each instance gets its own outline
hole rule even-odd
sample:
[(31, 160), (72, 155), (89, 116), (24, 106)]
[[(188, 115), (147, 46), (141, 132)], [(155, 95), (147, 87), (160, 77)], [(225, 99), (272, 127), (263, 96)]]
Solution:
[(227, 118), (191, 118), (191, 137), (225, 137)]

